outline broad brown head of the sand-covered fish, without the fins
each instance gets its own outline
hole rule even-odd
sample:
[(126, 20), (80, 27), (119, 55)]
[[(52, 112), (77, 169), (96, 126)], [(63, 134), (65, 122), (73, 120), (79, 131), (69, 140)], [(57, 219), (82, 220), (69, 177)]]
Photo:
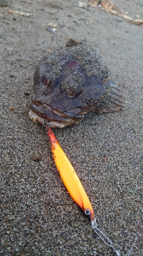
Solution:
[(52, 128), (77, 124), (98, 106), (104, 91), (102, 80), (89, 76), (76, 56), (61, 56), (54, 63), (43, 59), (35, 70), (30, 117)]

